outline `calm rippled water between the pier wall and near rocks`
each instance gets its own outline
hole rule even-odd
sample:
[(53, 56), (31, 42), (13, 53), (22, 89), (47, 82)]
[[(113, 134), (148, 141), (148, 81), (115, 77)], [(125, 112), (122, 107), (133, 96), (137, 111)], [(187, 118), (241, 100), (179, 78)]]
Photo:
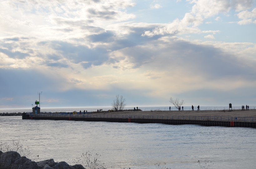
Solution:
[(172, 169), (198, 169), (197, 161), (209, 160), (210, 168), (255, 169), (256, 129), (86, 122), (22, 120), (0, 116), (0, 142), (20, 140), (34, 150), (37, 161), (57, 162), (90, 151), (107, 168), (155, 169), (156, 163)]

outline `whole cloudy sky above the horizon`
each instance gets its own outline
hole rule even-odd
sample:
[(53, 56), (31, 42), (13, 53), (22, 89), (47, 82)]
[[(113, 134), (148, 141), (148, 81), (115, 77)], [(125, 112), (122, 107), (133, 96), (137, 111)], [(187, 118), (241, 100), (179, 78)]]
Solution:
[(0, 108), (256, 105), (256, 0), (1, 0)]

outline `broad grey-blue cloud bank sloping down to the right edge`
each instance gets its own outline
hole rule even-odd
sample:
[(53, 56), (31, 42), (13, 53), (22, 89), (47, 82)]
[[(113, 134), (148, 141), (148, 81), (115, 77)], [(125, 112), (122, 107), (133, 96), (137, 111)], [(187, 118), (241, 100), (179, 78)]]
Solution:
[[(180, 68), (205, 78), (230, 76), (250, 77), (255, 79), (255, 68), (247, 66), (248, 60), (239, 59), (210, 45), (195, 45), (186, 41), (170, 41), (121, 49), (134, 68), (153, 66), (159, 70), (175, 71)], [(250, 61), (255, 62), (255, 61)], [(256, 64), (256, 63), (255, 63)]]

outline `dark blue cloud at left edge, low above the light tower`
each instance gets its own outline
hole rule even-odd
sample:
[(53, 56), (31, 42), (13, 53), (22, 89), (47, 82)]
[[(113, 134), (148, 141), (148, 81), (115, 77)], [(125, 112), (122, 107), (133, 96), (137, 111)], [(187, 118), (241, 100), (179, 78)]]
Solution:
[[(55, 98), (61, 84), (67, 84), (58, 76), (45, 75), (36, 69), (0, 69), (0, 105), (22, 105), (31, 107), (38, 100), (37, 92), (42, 91), (42, 98)], [(42, 101), (43, 105), (45, 100)], [(56, 106), (56, 105), (52, 105)]]

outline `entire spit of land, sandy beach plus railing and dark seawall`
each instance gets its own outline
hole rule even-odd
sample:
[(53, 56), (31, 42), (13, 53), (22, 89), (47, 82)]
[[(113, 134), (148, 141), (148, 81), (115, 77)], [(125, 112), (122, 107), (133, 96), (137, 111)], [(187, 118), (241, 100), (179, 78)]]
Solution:
[(134, 123), (163, 123), (173, 125), (198, 124), (204, 126), (252, 127), (256, 128), (256, 110), (185, 110), (185, 111), (101, 111), (84, 114), (23, 113), (22, 119), (30, 120), (75, 120)]

